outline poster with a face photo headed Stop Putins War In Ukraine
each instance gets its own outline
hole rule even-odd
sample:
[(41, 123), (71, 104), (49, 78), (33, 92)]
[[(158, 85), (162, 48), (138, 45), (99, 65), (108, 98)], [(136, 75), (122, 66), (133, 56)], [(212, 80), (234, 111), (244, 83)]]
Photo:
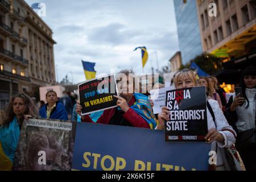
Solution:
[(69, 171), (76, 122), (29, 119), (23, 122), (15, 153), (15, 171)]

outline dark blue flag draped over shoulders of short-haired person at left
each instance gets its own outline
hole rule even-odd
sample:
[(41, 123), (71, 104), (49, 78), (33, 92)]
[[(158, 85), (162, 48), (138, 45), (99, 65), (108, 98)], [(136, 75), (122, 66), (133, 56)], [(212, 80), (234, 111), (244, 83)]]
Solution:
[[(39, 114), (41, 118), (47, 118), (47, 105), (44, 105), (40, 110)], [(67, 121), (68, 120), (68, 113), (64, 107), (64, 105), (61, 102), (56, 102), (56, 109), (53, 111), (49, 119), (60, 119)]]

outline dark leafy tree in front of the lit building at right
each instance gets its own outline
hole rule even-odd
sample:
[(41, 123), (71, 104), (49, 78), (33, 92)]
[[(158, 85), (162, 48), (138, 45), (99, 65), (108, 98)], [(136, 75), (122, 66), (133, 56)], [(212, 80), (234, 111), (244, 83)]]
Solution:
[(181, 65), (180, 69), (190, 68), (191, 62), (195, 62), (204, 72), (213, 75), (222, 69), (222, 58), (204, 52), (189, 61), (186, 65)]

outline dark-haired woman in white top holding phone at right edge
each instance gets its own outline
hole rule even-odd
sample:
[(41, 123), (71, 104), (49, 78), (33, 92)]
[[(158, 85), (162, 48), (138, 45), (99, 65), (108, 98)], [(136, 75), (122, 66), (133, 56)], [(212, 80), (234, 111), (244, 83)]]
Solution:
[(256, 67), (247, 67), (241, 77), (242, 93), (230, 97), (226, 105), (226, 117), (237, 130), (236, 147), (247, 171), (256, 170), (255, 100)]

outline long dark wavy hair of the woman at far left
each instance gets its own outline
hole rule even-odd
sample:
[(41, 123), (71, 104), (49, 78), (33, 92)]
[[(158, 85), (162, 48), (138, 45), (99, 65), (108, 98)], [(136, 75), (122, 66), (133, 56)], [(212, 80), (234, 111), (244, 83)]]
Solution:
[(36, 109), (34, 101), (29, 96), (27, 96), (27, 94), (18, 93), (11, 98), (9, 104), (6, 106), (1, 122), (3, 126), (9, 126), (9, 123), (14, 119), (15, 114), (13, 111), (13, 102), (17, 97), (22, 98), (24, 105), (26, 106), (26, 111), (23, 114), (32, 115), (32, 117), (38, 118), (38, 110)]

